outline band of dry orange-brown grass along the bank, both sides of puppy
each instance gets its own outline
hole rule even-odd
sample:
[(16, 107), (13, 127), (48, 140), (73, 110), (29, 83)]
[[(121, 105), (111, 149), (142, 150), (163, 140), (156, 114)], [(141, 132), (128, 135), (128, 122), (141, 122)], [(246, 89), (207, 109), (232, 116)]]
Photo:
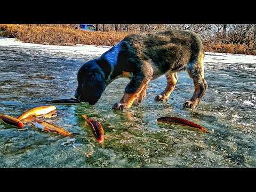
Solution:
[[(2, 36), (15, 37), (28, 43), (52, 45), (110, 45), (114, 46), (121, 41), (127, 33), (86, 31), (70, 27), (71, 25), (1, 25)], [(0, 34), (1, 36), (1, 34)], [(240, 44), (214, 44), (205, 43), (205, 51), (219, 53), (236, 53), (256, 55), (255, 47)]]

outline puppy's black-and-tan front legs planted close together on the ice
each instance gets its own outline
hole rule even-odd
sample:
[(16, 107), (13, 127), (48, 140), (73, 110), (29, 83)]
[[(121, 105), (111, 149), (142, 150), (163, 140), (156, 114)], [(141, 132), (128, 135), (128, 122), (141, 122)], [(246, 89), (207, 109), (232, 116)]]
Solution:
[[(145, 95), (147, 85), (153, 76), (153, 67), (149, 61), (143, 61), (142, 68), (137, 74), (134, 74), (131, 81), (125, 87), (124, 95), (119, 102), (116, 102), (112, 109), (129, 109), (135, 99), (142, 100)], [(142, 95), (142, 96), (141, 96)], [(141, 98), (142, 97), (142, 98)]]

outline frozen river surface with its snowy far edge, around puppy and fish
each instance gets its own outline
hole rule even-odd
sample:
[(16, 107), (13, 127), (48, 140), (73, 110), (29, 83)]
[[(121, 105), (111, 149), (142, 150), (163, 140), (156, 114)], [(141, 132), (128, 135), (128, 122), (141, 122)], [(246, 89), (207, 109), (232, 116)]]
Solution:
[[(19, 117), (71, 98), (77, 71), (110, 47), (37, 45), (0, 39), (0, 114)], [(24, 121), (24, 130), (0, 122), (0, 167), (256, 167), (256, 56), (206, 53), (208, 90), (196, 109), (182, 105), (194, 92), (184, 71), (167, 102), (155, 101), (166, 85), (161, 76), (148, 85), (146, 98), (127, 111), (112, 110), (129, 79), (119, 78), (93, 106), (55, 105), (37, 117), (77, 133), (74, 139), (45, 133)], [(97, 119), (106, 135), (95, 141), (82, 115)], [(209, 134), (157, 123), (162, 116), (186, 118)]]

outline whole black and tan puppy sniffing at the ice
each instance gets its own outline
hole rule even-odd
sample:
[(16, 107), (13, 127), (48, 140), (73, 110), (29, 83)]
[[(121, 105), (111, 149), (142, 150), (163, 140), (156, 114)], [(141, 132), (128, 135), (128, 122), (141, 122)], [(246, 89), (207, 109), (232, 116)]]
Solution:
[(127, 35), (100, 58), (86, 62), (78, 70), (75, 97), (93, 105), (114, 79), (129, 77), (131, 81), (123, 98), (113, 106), (117, 110), (128, 109), (141, 103), (150, 80), (165, 74), (167, 86), (155, 100), (166, 101), (178, 82), (177, 72), (187, 70), (195, 92), (183, 107), (195, 108), (207, 89), (203, 60), (202, 41), (192, 31)]

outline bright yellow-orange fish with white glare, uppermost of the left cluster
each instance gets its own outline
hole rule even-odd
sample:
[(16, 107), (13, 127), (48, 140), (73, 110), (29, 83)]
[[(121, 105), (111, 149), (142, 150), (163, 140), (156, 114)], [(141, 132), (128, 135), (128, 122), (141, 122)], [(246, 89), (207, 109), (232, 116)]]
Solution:
[(40, 107), (35, 107), (33, 109), (28, 110), (26, 113), (22, 114), (18, 119), (22, 120), (27, 117), (31, 116), (38, 116), (38, 115), (45, 115), (47, 113), (50, 113), (51, 111), (55, 110), (55, 106), (40, 106)]

